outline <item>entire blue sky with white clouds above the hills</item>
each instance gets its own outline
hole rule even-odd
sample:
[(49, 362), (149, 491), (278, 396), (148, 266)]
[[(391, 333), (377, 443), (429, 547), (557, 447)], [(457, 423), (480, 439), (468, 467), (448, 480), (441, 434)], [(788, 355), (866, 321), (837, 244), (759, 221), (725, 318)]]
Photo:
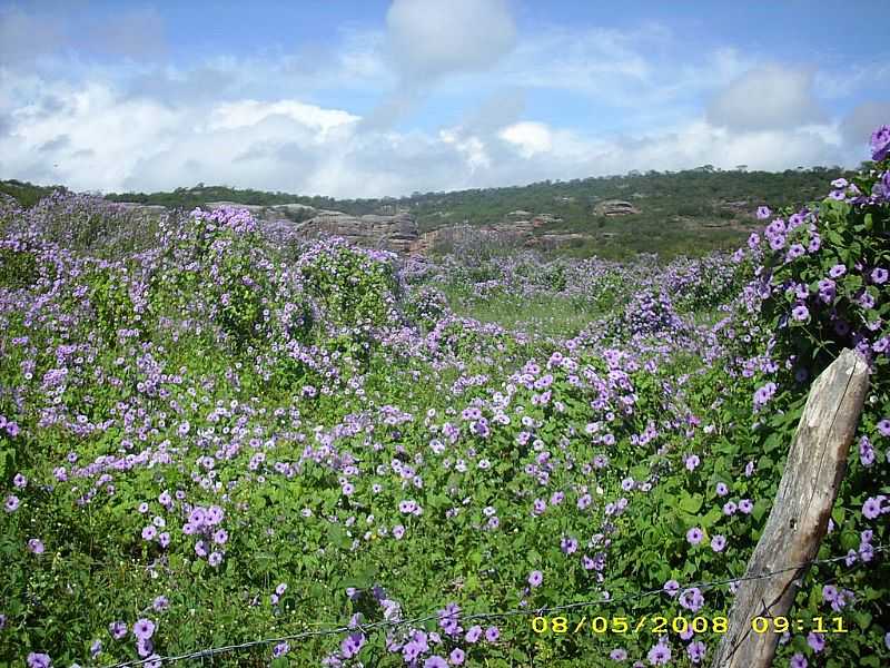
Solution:
[(856, 167), (879, 2), (0, 0), (0, 178), (339, 198)]

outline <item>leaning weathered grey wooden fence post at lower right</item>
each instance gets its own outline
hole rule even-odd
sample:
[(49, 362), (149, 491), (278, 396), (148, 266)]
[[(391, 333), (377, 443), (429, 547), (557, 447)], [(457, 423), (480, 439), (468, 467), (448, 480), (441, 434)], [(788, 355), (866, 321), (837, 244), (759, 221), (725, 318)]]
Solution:
[[(868, 366), (844, 350), (810, 389), (772, 511), (745, 577), (769, 574), (815, 559), (847, 468), (868, 392)], [(729, 628), (712, 668), (769, 668), (779, 633), (754, 632), (754, 617), (782, 617), (791, 608), (805, 566), (740, 583)]]

